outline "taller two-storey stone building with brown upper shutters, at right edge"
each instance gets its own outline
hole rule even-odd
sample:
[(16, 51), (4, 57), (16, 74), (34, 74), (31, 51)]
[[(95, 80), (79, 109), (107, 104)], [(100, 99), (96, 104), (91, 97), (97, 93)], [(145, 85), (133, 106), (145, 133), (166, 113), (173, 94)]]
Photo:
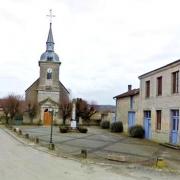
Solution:
[(180, 144), (180, 60), (139, 76), (139, 121), (145, 138)]

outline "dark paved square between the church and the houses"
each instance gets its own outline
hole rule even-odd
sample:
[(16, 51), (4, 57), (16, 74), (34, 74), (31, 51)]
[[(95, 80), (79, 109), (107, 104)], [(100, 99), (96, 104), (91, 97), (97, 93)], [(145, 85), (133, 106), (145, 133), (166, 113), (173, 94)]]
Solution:
[[(24, 133), (39, 137), (41, 143), (48, 146), (50, 128), (22, 126)], [(80, 154), (81, 149), (88, 150), (88, 157), (106, 159), (108, 155), (124, 156), (127, 161), (152, 163), (159, 156), (178, 160), (180, 168), (179, 151), (171, 151), (151, 141), (129, 138), (120, 134), (110, 133), (98, 127), (88, 127), (87, 134), (59, 133), (54, 127), (53, 141), (59, 153), (73, 156)]]

